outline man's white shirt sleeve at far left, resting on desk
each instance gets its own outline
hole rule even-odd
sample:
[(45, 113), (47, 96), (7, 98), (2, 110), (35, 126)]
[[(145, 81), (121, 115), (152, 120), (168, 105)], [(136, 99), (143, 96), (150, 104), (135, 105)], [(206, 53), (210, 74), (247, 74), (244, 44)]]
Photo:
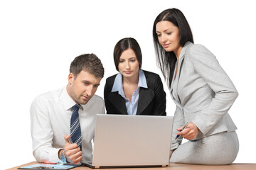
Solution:
[(31, 136), (33, 156), (37, 162), (57, 163), (60, 148), (53, 148), (53, 130), (46, 102), (37, 97), (31, 105)]

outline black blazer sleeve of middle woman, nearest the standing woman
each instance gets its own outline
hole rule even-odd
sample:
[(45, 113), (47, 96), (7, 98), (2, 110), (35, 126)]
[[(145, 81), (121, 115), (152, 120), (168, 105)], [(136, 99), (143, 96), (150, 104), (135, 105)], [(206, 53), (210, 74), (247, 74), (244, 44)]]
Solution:
[(159, 75), (155, 81), (154, 94), (153, 115), (166, 115), (166, 93)]

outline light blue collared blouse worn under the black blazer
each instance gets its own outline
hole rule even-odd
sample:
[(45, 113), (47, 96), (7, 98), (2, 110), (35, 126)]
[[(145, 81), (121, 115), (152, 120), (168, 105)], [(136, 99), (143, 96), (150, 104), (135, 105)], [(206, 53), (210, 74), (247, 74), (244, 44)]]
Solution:
[(146, 77), (142, 69), (139, 69), (139, 83), (137, 89), (132, 94), (132, 101), (129, 101), (128, 98), (124, 95), (124, 89), (122, 86), (122, 74), (117, 74), (117, 77), (114, 79), (114, 84), (111, 92), (118, 91), (118, 94), (124, 98), (125, 106), (127, 108), (128, 115), (136, 115), (138, 102), (139, 102), (139, 89), (140, 87), (148, 88), (146, 84)]

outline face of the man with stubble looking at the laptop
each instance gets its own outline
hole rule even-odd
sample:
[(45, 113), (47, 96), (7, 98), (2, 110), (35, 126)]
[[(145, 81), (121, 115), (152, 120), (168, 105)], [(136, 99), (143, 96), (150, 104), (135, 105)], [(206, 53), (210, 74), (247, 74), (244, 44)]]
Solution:
[(76, 78), (74, 74), (70, 73), (68, 75), (68, 94), (75, 103), (85, 105), (97, 91), (101, 79), (84, 70)]

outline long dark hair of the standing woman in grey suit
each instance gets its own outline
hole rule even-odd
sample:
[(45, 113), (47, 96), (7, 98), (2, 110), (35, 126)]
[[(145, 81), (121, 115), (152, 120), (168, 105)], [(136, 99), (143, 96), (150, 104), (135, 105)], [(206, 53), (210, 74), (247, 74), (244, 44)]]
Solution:
[(171, 80), (174, 77), (174, 69), (177, 61), (174, 52), (166, 52), (164, 48), (160, 45), (158, 36), (156, 34), (156, 23), (160, 21), (170, 21), (180, 30), (180, 45), (183, 47), (186, 42), (190, 41), (193, 43), (193, 35), (191, 28), (188, 24), (183, 13), (177, 8), (169, 8), (162, 11), (159, 16), (156, 17), (153, 26), (153, 39), (154, 47), (156, 51), (156, 61), (158, 67), (160, 67), (162, 74), (166, 83), (171, 88)]

